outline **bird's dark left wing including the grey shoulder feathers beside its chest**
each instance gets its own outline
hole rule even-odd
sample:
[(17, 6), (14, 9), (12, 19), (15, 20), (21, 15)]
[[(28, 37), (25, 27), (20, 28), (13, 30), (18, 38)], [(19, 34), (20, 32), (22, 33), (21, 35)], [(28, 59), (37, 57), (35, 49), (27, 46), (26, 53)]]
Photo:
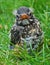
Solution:
[(11, 38), (11, 42), (16, 44), (19, 43), (20, 41), (20, 36), (22, 33), (22, 30), (24, 28), (22, 26), (18, 26), (16, 23), (13, 25), (11, 31), (10, 31), (10, 38)]

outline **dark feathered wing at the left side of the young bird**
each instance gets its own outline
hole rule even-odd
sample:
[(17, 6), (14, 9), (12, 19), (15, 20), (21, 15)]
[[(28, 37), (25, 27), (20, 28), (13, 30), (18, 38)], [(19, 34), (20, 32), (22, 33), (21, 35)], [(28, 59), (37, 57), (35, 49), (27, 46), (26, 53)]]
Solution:
[(11, 42), (13, 44), (16, 44), (18, 41), (19, 41), (19, 30), (18, 30), (18, 27), (16, 24), (13, 25), (11, 31), (10, 31), (10, 34), (11, 34)]

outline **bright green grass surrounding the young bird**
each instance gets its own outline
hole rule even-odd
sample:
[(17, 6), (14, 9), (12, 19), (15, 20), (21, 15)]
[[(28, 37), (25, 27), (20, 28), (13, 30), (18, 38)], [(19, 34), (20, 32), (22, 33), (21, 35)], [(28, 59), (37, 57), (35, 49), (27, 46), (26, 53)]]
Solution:
[[(14, 9), (28, 6), (34, 9), (34, 15), (41, 23), (44, 32), (44, 44), (40, 52), (34, 52), (35, 57), (28, 55), (25, 50), (21, 54), (13, 54), (8, 48), (9, 30), (15, 17)], [(0, 0), (0, 65), (50, 65), (50, 0)], [(22, 57), (19, 60), (18, 57)]]

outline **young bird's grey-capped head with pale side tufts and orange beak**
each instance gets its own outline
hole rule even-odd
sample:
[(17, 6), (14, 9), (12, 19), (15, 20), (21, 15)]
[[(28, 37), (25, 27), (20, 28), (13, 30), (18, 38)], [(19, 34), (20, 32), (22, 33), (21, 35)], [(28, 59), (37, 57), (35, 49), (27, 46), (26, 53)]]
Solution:
[(18, 10), (13, 11), (13, 14), (16, 16), (17, 20), (19, 20), (20, 22), (24, 21), (24, 24), (26, 20), (33, 18), (32, 13), (33, 13), (33, 10), (31, 8), (24, 7), (24, 6), (20, 7)]

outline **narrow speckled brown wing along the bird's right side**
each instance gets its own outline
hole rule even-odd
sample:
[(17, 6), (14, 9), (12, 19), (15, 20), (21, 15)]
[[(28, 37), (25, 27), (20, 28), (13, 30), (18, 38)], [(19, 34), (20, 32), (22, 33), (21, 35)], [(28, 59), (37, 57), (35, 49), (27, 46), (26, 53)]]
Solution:
[(40, 26), (41, 24), (36, 18), (34, 18), (34, 21), (35, 21), (35, 29), (36, 29), (38, 40), (40, 41), (40, 43), (42, 43), (43, 38), (44, 38), (44, 33), (41, 29), (41, 26)]

